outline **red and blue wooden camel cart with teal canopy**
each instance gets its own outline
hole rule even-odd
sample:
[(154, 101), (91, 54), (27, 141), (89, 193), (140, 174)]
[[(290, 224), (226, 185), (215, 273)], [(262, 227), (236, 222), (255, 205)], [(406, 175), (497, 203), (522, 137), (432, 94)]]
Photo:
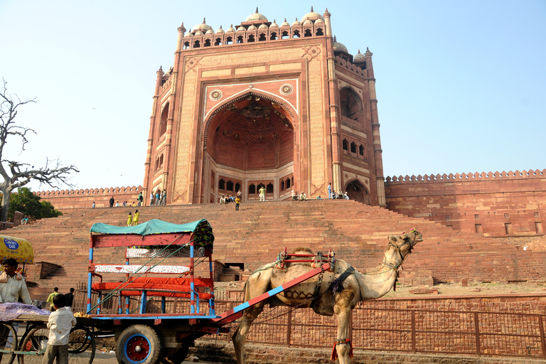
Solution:
[[(299, 259), (308, 257), (307, 262), (316, 262), (316, 269), (217, 315), (214, 304), (213, 242), (213, 230), (207, 220), (184, 225), (150, 220), (127, 228), (92, 225), (87, 314), (92, 326), (113, 328), (116, 356), (120, 364), (180, 364), (196, 338), (228, 333), (229, 328), (223, 326), (240, 318), (243, 310), (333, 266), (333, 253), (328, 256), (298, 255)], [(102, 248), (125, 249), (125, 264), (95, 264), (93, 254), (96, 249)], [(170, 257), (186, 258), (189, 264), (161, 265)], [(131, 264), (134, 259), (141, 261), (139, 264)], [(283, 259), (284, 262), (291, 261), (286, 252)], [(146, 262), (141, 264), (143, 260)], [(196, 277), (196, 267), (207, 262), (208, 267), (202, 271), (208, 272), (208, 277)], [(105, 274), (117, 274), (117, 277), (125, 274), (125, 279), (122, 282), (106, 282), (103, 280)], [(94, 282), (97, 279), (98, 282)], [(96, 302), (92, 292), (97, 292)], [(117, 296), (119, 302), (117, 314), (103, 314), (102, 305), (114, 296)], [(131, 311), (131, 297), (139, 297), (137, 312)], [(161, 314), (146, 313), (148, 297), (161, 297)], [(166, 297), (189, 299), (188, 311), (183, 314), (166, 313)]]

